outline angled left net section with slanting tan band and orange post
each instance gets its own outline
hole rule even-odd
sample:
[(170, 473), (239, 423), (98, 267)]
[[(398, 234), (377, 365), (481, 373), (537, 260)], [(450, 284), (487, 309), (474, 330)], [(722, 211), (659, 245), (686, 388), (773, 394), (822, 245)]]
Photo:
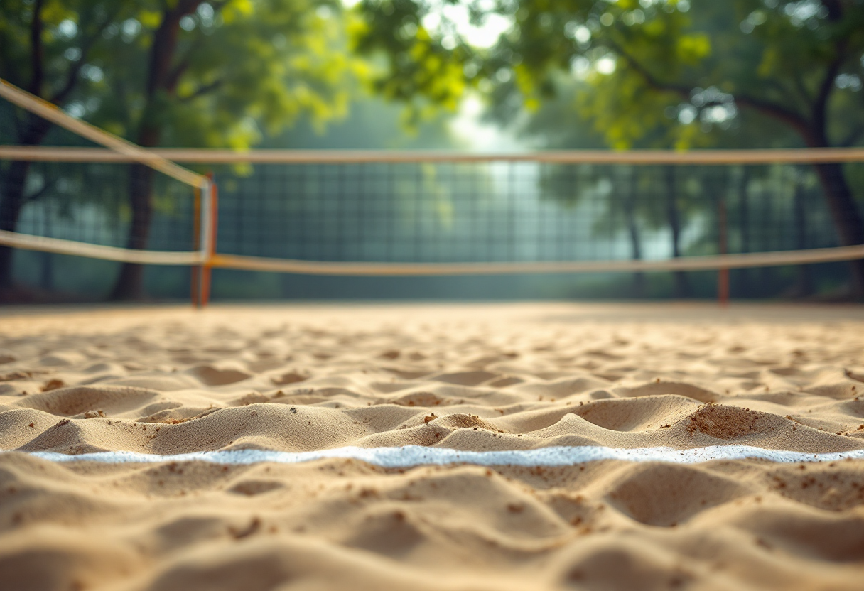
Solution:
[[(81, 156), (93, 149), (101, 157)], [(206, 269), (214, 195), (206, 175), (0, 79), (0, 248)], [(0, 252), (0, 273), (10, 264)], [(200, 302), (208, 277), (194, 281)]]

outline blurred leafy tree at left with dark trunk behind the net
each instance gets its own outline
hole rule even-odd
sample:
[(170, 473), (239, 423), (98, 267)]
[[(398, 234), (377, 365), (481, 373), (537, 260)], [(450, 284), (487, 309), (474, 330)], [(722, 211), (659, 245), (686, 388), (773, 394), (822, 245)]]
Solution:
[[(2, 16), (0, 48), (18, 48), (0, 58), (3, 77), (147, 148), (245, 149), (303, 113), (318, 120), (340, 114), (345, 81), (359, 73), (337, 47), (339, 7), (330, 0), (3, 6), (9, 15)], [(25, 33), (29, 46), (21, 44)], [(19, 143), (41, 143), (47, 124), (36, 127), (46, 130)], [(27, 167), (19, 168), (23, 179)], [(143, 165), (130, 167), (129, 248), (147, 246), (154, 175)], [(3, 199), (19, 204), (3, 210), (4, 226), (14, 229), (22, 194), (7, 190)], [(10, 254), (0, 256), (0, 281), (7, 284)], [(143, 268), (124, 264), (112, 297), (141, 296)]]

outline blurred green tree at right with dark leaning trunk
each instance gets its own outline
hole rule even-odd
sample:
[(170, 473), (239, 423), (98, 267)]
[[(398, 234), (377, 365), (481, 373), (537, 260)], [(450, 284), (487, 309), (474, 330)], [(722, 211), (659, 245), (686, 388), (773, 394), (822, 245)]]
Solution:
[[(415, 72), (415, 64), (435, 54), (461, 67), (467, 85), (496, 105), (536, 108), (555, 94), (556, 78), (571, 73), (586, 83), (578, 101), (582, 115), (617, 149), (651, 137), (665, 137), (667, 146), (678, 148), (713, 145), (723, 130), (734, 128), (741, 111), (776, 122), (779, 135), (791, 130), (797, 145), (861, 143), (861, 0), (692, 6), (689, 0), (476, 0), (469, 6), (473, 22), (510, 19), (511, 28), (494, 47), (472, 48), (458, 23), (446, 19), (424, 28), (435, 22), (431, 3), (360, 3), (366, 24), (358, 47), (390, 56), (384, 90), (437, 99)], [(401, 35), (376, 41), (388, 28)], [(414, 38), (406, 28), (416, 29)], [(842, 166), (815, 169), (840, 242), (864, 243), (864, 220)], [(864, 261), (853, 269), (860, 295)]]

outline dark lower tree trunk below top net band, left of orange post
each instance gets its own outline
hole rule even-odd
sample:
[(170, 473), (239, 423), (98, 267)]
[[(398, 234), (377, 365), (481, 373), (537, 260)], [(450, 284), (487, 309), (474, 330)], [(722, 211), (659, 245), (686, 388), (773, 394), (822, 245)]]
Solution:
[[(150, 221), (153, 219), (153, 168), (144, 164), (131, 165), (129, 175), (129, 201), (132, 220), (126, 248), (142, 251), (147, 248)], [(141, 264), (124, 263), (111, 300), (141, 300), (144, 297), (144, 267)]]

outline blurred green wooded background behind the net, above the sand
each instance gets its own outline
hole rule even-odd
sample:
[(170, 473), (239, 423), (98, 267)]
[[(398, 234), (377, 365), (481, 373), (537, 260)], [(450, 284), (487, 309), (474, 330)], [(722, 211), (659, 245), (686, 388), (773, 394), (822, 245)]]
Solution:
[[(5, 0), (0, 78), (146, 148), (454, 150), (480, 161), (182, 162), (218, 251), (321, 262), (663, 260), (864, 244), (864, 157), (543, 162), (550, 149), (864, 145), (861, 0)], [(96, 144), (0, 99), (0, 144)], [(839, 154), (839, 153), (838, 153)], [(492, 155), (492, 156), (490, 156)], [(190, 187), (0, 160), (0, 230), (195, 247)], [(172, 301), (188, 267), (0, 246), (0, 302)], [(734, 298), (848, 301), (861, 261), (732, 270)], [(214, 301), (714, 298), (716, 270), (213, 271)]]

